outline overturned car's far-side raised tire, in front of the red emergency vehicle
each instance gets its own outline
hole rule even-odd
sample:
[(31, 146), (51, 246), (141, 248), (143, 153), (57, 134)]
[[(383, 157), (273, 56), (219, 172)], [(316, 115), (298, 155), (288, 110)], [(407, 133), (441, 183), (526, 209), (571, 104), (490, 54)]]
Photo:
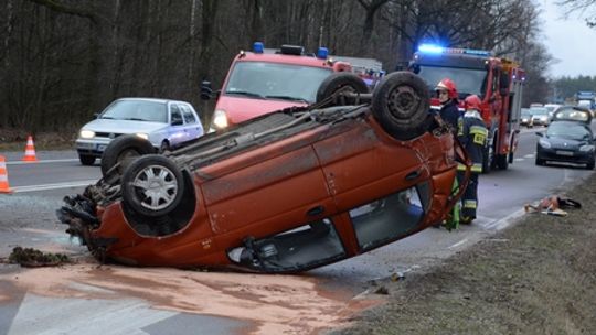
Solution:
[(353, 105), (355, 102), (354, 98), (342, 95), (331, 98), (331, 96), (333, 96), (338, 91), (365, 94), (369, 93), (369, 86), (366, 86), (366, 83), (364, 83), (362, 78), (352, 73), (334, 73), (327, 77), (319, 86), (319, 89), (317, 90), (317, 104), (320, 104), (327, 99), (329, 99), (330, 101), (329, 104), (324, 105), (326, 107)]

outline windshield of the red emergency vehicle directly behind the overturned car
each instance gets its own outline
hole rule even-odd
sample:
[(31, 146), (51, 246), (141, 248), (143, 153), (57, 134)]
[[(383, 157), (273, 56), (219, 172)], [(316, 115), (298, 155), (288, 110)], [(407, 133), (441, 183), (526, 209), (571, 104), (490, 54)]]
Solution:
[(237, 62), (224, 91), (227, 95), (315, 102), (317, 89), (330, 74), (331, 68)]

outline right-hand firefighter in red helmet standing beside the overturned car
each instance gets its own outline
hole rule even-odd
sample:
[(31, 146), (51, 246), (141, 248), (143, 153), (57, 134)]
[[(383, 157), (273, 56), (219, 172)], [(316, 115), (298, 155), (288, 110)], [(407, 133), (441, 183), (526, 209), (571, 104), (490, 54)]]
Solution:
[[(461, 224), (471, 224), (476, 218), (476, 208), (478, 207), (478, 175), (482, 173), (482, 152), (487, 142), (488, 130), (480, 116), (480, 98), (476, 95), (468, 96), (465, 100), (466, 112), (462, 117), (461, 127), (457, 132), (457, 138), (466, 149), (468, 156), (472, 162), (470, 181), (461, 197)], [(461, 180), (466, 173), (466, 166), (458, 163), (457, 177)]]

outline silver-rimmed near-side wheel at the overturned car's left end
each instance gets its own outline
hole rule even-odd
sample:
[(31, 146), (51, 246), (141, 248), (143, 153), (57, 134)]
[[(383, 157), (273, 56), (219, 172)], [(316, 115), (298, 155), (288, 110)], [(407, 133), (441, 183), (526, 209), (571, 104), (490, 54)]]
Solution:
[(132, 162), (123, 175), (123, 199), (140, 215), (163, 216), (182, 201), (184, 179), (174, 162), (148, 154)]

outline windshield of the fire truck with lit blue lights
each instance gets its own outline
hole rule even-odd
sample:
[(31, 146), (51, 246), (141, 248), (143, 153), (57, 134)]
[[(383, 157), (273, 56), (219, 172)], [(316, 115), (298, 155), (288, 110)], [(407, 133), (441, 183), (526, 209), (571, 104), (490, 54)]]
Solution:
[(421, 66), (418, 75), (426, 80), (430, 90), (434, 90), (437, 83), (443, 78), (454, 80), (457, 86), (457, 91), (466, 96), (473, 94), (482, 98), (487, 90), (485, 83), (488, 73), (486, 69), (425, 65)]

